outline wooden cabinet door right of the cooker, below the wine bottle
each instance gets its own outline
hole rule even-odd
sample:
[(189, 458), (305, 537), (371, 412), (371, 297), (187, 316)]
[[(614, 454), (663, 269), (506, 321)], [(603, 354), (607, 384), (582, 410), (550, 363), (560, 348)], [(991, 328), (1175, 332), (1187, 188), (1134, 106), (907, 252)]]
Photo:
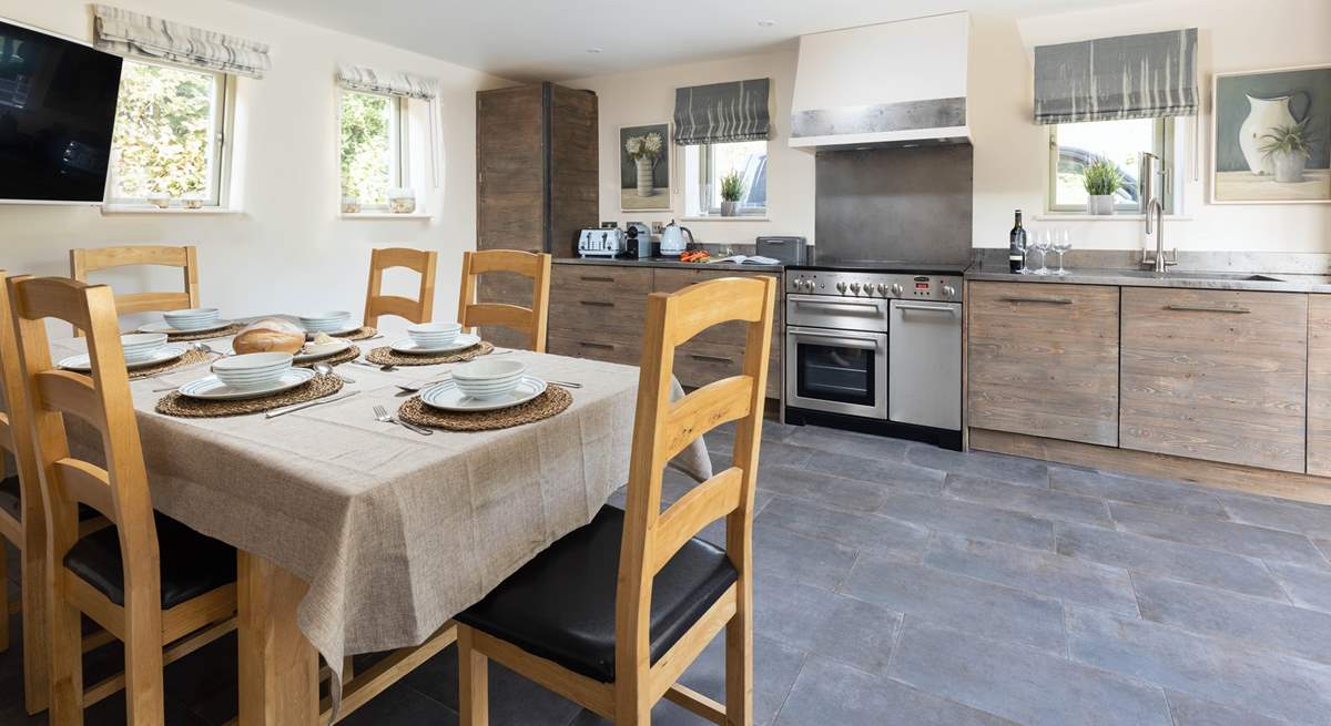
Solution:
[(1118, 287), (972, 282), (969, 425), (1118, 444)]

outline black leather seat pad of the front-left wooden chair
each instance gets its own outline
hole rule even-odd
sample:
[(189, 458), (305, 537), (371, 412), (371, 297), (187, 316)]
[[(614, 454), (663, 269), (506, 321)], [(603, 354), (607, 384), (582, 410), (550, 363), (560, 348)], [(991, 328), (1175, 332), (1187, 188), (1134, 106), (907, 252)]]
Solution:
[[(234, 548), (162, 515), (157, 515), (157, 550), (164, 610), (236, 581)], [(75, 543), (65, 554), (65, 566), (116, 605), (125, 605), (125, 570), (114, 527)]]

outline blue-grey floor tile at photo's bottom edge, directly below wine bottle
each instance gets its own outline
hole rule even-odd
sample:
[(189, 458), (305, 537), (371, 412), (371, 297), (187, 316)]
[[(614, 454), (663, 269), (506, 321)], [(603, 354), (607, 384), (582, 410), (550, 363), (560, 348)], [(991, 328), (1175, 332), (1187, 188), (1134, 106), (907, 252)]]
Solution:
[(1042, 653), (906, 617), (892, 675), (1029, 726), (1171, 726), (1165, 694)]

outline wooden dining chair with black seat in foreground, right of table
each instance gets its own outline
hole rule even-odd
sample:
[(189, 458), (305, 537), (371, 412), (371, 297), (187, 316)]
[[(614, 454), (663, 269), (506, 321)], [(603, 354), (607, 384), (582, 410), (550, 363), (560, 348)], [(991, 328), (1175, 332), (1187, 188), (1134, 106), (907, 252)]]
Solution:
[[(463, 726), (488, 722), (488, 661), (620, 726), (662, 697), (720, 725), (752, 723), (752, 525), (776, 281), (725, 278), (647, 301), (626, 509), (603, 507), (457, 617)], [(740, 375), (671, 402), (675, 348), (747, 323)], [(664, 512), (662, 469), (736, 422), (732, 465)], [(725, 549), (696, 535), (725, 520)], [(725, 703), (676, 681), (725, 630)]]

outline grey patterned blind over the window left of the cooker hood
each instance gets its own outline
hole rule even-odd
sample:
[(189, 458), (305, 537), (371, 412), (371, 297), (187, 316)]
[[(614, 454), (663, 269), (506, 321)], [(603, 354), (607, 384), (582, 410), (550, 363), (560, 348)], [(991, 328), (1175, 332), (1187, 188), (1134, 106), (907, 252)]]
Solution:
[(771, 78), (675, 89), (675, 144), (759, 141), (772, 136)]

